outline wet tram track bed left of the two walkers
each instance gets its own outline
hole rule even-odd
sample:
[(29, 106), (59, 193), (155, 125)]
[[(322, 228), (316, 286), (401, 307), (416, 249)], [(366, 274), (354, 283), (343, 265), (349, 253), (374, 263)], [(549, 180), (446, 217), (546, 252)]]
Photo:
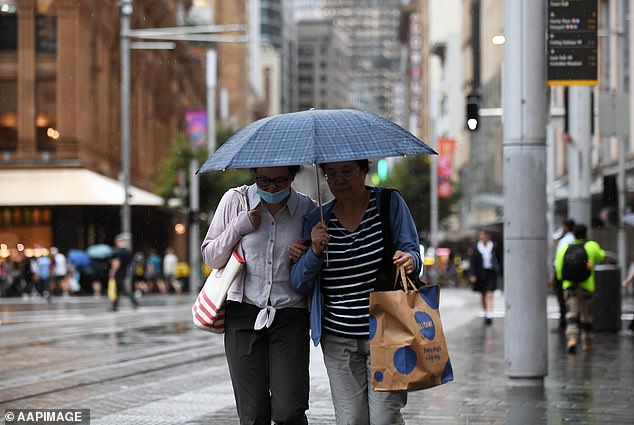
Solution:
[(0, 407), (65, 403), (78, 393), (220, 365), (222, 337), (193, 329), (188, 300), (165, 300), (116, 314), (88, 303), (31, 312), (3, 305)]

